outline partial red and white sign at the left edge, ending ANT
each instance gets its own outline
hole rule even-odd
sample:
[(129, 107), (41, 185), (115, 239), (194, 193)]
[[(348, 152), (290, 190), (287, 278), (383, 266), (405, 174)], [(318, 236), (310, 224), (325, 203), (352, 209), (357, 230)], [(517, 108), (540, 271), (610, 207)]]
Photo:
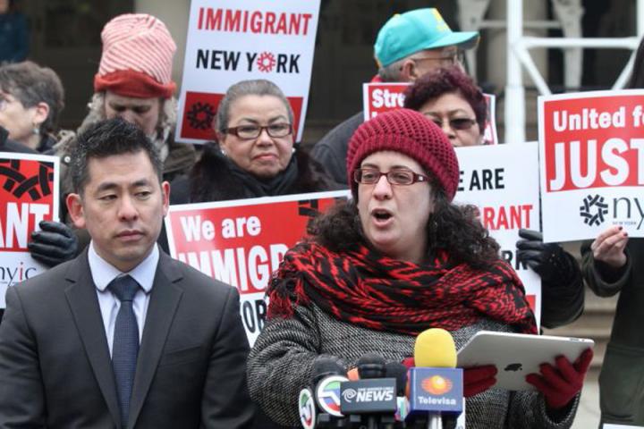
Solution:
[(40, 221), (58, 220), (57, 156), (0, 152), (0, 307), (9, 286), (47, 270), (27, 243)]

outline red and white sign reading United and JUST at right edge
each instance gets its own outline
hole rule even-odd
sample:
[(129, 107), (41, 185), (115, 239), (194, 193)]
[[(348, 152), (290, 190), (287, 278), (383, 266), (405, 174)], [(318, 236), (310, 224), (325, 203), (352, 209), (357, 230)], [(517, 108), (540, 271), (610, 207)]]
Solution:
[(644, 90), (539, 97), (545, 241), (644, 237)]

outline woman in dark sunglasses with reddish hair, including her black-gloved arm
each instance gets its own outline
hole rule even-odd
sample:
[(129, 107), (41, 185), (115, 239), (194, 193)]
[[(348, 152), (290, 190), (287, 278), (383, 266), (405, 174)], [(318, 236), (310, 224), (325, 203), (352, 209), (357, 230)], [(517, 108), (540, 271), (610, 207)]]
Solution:
[[(435, 122), (453, 147), (483, 143), (487, 103), (480, 88), (459, 68), (439, 69), (416, 80), (405, 93), (404, 106)], [(542, 320), (547, 328), (569, 324), (584, 306), (577, 260), (556, 243), (544, 243), (539, 231), (521, 230), (517, 258), (542, 281)]]

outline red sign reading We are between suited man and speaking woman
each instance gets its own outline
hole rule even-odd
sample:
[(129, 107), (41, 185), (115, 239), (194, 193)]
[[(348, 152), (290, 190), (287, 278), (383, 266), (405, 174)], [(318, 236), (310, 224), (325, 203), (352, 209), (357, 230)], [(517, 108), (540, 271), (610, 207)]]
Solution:
[(316, 214), (349, 191), (170, 206), (165, 231), (172, 257), (235, 286), (252, 345), (264, 327), (268, 281)]

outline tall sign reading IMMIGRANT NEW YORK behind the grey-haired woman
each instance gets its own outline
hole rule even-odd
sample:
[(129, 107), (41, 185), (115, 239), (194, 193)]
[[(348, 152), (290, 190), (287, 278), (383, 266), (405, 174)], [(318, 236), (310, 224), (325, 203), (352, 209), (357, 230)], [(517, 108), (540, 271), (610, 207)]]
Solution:
[(266, 79), (284, 91), (301, 139), (309, 100), (320, 0), (192, 0), (179, 101), (177, 141), (215, 139), (226, 89)]

